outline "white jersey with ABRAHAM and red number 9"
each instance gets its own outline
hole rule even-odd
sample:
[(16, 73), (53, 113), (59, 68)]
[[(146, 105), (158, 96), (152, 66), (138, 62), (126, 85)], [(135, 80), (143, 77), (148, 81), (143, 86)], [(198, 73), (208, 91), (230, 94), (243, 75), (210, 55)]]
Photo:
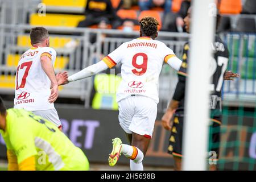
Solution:
[(182, 61), (172, 49), (158, 40), (141, 37), (123, 43), (102, 59), (109, 68), (122, 63), (122, 82), (117, 91), (117, 102), (133, 94), (159, 102), (158, 82), (163, 63), (179, 70)]

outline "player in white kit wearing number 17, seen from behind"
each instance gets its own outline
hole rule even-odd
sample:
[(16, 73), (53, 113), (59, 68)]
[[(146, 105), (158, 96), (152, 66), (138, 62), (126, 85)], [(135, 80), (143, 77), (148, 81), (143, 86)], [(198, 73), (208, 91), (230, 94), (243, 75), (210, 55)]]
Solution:
[(67, 73), (55, 76), (56, 51), (49, 47), (46, 28), (32, 28), (30, 39), (32, 47), (20, 57), (16, 70), (14, 108), (32, 111), (61, 129), (53, 102), (59, 95), (58, 85), (67, 79)]

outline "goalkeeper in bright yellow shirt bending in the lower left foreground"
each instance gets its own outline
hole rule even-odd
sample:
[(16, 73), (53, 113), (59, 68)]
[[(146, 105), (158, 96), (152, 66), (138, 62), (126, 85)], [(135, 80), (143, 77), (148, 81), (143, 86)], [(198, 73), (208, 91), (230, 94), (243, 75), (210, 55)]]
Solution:
[(88, 170), (89, 162), (53, 123), (23, 109), (7, 109), (0, 97), (0, 133), (9, 170)]

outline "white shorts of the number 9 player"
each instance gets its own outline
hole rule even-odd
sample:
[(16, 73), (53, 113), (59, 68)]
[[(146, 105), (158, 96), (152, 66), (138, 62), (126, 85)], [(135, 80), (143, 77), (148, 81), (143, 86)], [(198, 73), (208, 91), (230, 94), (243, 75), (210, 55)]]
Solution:
[(157, 104), (146, 96), (131, 95), (118, 102), (119, 123), (126, 133), (151, 138), (157, 114)]

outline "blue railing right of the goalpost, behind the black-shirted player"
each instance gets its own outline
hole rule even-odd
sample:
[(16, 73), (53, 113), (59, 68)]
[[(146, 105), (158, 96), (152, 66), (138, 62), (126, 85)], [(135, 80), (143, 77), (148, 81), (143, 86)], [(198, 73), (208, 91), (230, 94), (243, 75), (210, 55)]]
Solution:
[(229, 49), (228, 70), (241, 74), (235, 81), (224, 82), (226, 101), (256, 100), (256, 34), (229, 33), (223, 36)]

